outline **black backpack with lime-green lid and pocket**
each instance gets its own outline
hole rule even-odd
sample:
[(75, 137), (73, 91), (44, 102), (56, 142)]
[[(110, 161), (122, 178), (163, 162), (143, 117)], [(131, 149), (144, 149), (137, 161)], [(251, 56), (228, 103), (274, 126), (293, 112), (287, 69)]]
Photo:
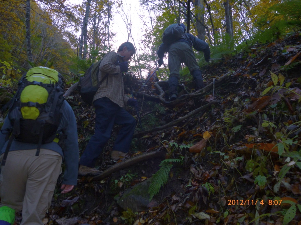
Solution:
[(13, 139), (37, 144), (36, 156), (42, 144), (58, 142), (57, 129), (64, 102), (61, 74), (48, 67), (34, 67), (21, 77), (18, 85), (9, 106), (12, 129), (6, 131), (9, 142), (1, 165), (5, 164)]

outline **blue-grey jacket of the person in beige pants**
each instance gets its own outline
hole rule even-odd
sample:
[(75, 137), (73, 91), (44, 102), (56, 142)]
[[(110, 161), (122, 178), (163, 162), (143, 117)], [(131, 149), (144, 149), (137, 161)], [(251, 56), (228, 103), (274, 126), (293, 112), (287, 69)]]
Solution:
[[(70, 105), (67, 103), (67, 101), (64, 101), (61, 109), (63, 110), (63, 116), (58, 130), (62, 130), (64, 134), (67, 135), (67, 139), (64, 140), (66, 148), (63, 152), (61, 147), (56, 142), (51, 142), (47, 144), (42, 144), (41, 149), (53, 150), (54, 152), (58, 152), (63, 157), (66, 166), (64, 171), (63, 184), (76, 185), (78, 164), (79, 164), (79, 149), (78, 149), (76, 119), (73, 110), (70, 107)], [(5, 118), (1, 131), (4, 131), (6, 128), (12, 128), (8, 117)], [(8, 141), (5, 142), (5, 137), (6, 134), (0, 132), (1, 154), (5, 152), (8, 143)], [(37, 144), (23, 143), (23, 142), (18, 142), (16, 140), (13, 140), (9, 151), (29, 150), (29, 149), (36, 149), (36, 148), (37, 148)]]

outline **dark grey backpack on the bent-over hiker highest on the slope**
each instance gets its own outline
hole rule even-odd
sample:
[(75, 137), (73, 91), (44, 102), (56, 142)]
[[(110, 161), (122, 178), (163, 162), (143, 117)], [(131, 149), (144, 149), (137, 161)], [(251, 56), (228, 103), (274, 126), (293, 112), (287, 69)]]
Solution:
[(164, 44), (172, 44), (178, 41), (185, 33), (185, 25), (182, 23), (174, 23), (169, 25), (163, 32), (162, 42)]

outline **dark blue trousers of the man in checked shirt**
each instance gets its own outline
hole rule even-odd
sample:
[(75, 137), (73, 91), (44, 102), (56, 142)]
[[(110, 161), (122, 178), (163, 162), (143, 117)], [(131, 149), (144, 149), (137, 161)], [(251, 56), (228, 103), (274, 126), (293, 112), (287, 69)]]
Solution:
[(91, 137), (87, 147), (80, 158), (79, 164), (87, 167), (95, 167), (95, 162), (101, 155), (105, 144), (111, 137), (114, 124), (122, 125), (113, 150), (129, 152), (136, 121), (125, 109), (103, 97), (93, 102), (95, 107), (95, 134)]

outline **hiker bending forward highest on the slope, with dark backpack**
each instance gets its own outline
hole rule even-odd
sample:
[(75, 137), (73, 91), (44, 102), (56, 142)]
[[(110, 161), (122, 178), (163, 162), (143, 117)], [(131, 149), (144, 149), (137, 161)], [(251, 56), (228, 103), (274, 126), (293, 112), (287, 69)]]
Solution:
[(205, 87), (202, 73), (199, 65), (197, 64), (192, 46), (194, 49), (202, 51), (206, 62), (209, 62), (209, 45), (199, 38), (185, 32), (186, 27), (183, 23), (169, 25), (163, 32), (163, 43), (157, 51), (159, 66), (163, 64), (165, 52), (168, 52), (168, 91), (170, 101), (175, 100), (178, 96), (177, 87), (178, 80), (180, 79), (180, 66), (182, 62), (184, 62), (184, 64), (188, 67), (191, 75), (193, 76), (196, 83), (196, 89), (198, 90)]

